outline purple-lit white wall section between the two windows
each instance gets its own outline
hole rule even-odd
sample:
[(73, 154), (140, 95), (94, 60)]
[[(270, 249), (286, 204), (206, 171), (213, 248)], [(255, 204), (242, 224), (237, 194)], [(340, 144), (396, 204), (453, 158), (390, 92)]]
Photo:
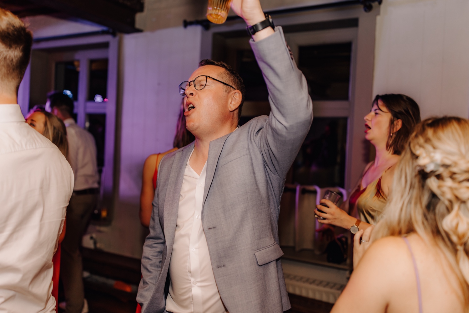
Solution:
[(200, 61), (201, 28), (169, 28), (124, 35), (121, 48), (121, 163), (119, 199), (109, 227), (90, 227), (98, 247), (140, 258), (138, 217), (144, 160), (173, 148), (182, 97), (178, 85)]

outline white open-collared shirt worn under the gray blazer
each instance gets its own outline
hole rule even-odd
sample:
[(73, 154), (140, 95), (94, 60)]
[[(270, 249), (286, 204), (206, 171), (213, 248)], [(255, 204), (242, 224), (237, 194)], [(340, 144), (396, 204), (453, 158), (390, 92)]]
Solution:
[(199, 176), (188, 161), (182, 180), (166, 298), (166, 311), (173, 313), (227, 312), (213, 276), (202, 227), (206, 172), (207, 163)]

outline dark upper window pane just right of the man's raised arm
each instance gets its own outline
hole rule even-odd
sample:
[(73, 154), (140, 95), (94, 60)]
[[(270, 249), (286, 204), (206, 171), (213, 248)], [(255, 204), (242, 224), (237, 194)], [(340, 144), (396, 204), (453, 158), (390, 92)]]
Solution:
[(352, 43), (299, 47), (312, 100), (348, 100)]

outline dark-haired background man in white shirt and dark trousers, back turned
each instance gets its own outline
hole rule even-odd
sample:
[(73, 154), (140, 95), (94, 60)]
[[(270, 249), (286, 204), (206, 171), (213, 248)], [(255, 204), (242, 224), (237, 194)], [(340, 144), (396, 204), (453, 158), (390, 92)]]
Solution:
[(83, 264), (80, 246), (99, 197), (96, 144), (91, 133), (76, 125), (72, 99), (61, 92), (47, 95), (46, 110), (67, 127), (68, 161), (75, 174), (75, 187), (67, 208), (67, 233), (62, 242), (61, 279), (66, 313), (88, 311), (84, 299)]

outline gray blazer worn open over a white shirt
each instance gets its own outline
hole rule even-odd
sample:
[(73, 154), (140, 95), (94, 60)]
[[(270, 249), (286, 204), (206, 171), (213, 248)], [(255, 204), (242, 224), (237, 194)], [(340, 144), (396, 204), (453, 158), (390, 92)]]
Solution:
[[(213, 274), (230, 313), (288, 310), (277, 221), (285, 177), (312, 121), (312, 103), (281, 27), (251, 47), (264, 74), (272, 111), (210, 142), (202, 225)], [(165, 312), (179, 194), (194, 143), (166, 155), (158, 171), (150, 235), (137, 302)]]

